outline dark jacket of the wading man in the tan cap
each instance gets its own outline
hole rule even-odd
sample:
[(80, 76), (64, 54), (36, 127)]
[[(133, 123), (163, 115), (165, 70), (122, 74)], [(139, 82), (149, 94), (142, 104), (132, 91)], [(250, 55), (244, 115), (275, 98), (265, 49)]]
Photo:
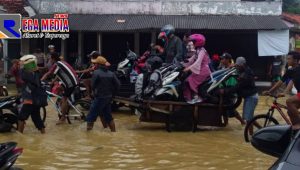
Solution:
[(92, 77), (92, 90), (95, 97), (113, 97), (117, 94), (119, 88), (120, 81), (113, 72), (103, 66), (100, 66), (94, 71)]

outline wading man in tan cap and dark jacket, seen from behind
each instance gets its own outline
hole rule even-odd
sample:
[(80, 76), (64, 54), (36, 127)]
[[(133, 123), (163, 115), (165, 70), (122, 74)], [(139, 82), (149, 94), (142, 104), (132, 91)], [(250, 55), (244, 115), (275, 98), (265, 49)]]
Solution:
[(86, 118), (87, 130), (93, 129), (94, 122), (100, 116), (104, 120), (102, 121), (104, 128), (108, 126), (112, 132), (115, 132), (115, 122), (111, 115), (111, 102), (113, 95), (120, 88), (120, 82), (116, 75), (107, 69), (108, 62), (104, 57), (98, 56), (92, 59), (92, 62), (99, 64), (99, 67), (94, 71), (92, 77), (94, 100)]

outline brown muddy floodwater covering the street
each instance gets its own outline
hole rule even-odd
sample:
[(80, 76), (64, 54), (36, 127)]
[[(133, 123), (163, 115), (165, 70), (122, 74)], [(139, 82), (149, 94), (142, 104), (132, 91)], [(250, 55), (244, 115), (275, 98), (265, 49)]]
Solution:
[[(240, 110), (240, 109), (239, 109)], [(257, 113), (267, 110), (261, 98)], [(27, 121), (24, 134), (0, 135), (0, 141), (17, 141), (24, 148), (16, 162), (22, 169), (233, 169), (265, 170), (275, 158), (243, 140), (243, 127), (235, 119), (225, 128), (167, 133), (164, 124), (139, 122), (129, 111), (114, 114), (117, 132), (91, 132), (85, 123), (56, 126), (56, 112), (48, 106), (46, 134)]]

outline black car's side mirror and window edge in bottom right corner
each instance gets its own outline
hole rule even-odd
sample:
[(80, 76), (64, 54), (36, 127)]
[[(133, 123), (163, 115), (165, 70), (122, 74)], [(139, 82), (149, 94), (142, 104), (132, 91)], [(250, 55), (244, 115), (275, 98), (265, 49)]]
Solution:
[(256, 131), (251, 144), (257, 150), (277, 157), (270, 170), (300, 169), (300, 131), (290, 125), (268, 126)]

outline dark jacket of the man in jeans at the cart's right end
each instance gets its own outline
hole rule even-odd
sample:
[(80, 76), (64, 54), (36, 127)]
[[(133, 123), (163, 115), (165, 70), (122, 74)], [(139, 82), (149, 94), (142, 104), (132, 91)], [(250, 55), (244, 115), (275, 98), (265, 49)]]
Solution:
[(240, 71), (237, 80), (238, 83), (236, 86), (225, 89), (226, 94), (238, 93), (241, 97), (245, 98), (253, 96), (257, 93), (254, 81), (254, 73), (248, 66)]

